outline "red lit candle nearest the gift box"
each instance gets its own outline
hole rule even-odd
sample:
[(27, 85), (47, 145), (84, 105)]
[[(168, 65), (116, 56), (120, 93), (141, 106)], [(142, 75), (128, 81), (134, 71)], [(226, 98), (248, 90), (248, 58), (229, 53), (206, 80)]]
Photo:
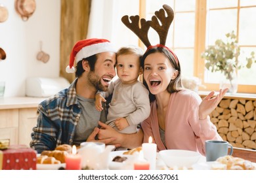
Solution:
[(72, 147), (72, 154), (65, 157), (66, 170), (81, 170), (81, 156), (76, 154), (75, 145)]

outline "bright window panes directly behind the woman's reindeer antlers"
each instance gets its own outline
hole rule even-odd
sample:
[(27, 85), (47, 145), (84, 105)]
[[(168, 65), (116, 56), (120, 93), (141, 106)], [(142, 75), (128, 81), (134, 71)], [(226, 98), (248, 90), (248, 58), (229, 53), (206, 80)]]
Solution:
[[(186, 6), (184, 6), (186, 3)], [(196, 0), (147, 0), (146, 20), (151, 20), (156, 10), (163, 8), (164, 4), (173, 8), (174, 20), (169, 28), (166, 46), (171, 48), (179, 58), (184, 77), (194, 76), (194, 31), (195, 31), (195, 9)], [(150, 29), (148, 37), (152, 45), (158, 44), (158, 34)]]

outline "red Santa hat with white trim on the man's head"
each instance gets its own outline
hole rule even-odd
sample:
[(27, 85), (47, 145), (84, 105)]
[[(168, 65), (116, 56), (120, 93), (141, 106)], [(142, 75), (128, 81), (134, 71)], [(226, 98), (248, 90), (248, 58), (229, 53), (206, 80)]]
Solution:
[(114, 48), (114, 44), (106, 39), (93, 38), (78, 41), (75, 43), (75, 46), (73, 47), (70, 54), (70, 65), (66, 67), (66, 72), (75, 72), (74, 61), (77, 63), (83, 58), (88, 58), (89, 56), (93, 56), (102, 52), (116, 52), (116, 48)]

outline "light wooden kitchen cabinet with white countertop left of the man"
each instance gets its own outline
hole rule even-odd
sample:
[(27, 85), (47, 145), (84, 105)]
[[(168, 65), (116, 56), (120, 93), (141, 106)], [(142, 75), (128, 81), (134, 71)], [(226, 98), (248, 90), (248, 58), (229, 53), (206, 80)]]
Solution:
[(37, 124), (37, 106), (45, 98), (9, 97), (0, 99), (0, 139), (10, 144), (30, 145)]

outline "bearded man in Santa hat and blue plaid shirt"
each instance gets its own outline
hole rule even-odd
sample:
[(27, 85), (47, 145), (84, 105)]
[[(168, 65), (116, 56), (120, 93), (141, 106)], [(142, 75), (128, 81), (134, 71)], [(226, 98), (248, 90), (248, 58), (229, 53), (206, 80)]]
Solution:
[[(77, 63), (76, 71), (74, 61)], [(98, 90), (108, 90), (110, 80), (116, 76), (115, 65), (116, 50), (108, 40), (86, 39), (75, 44), (66, 71), (75, 71), (77, 78), (69, 88), (39, 104), (37, 127), (33, 127), (30, 142), (37, 153), (54, 150), (60, 144), (79, 146), (85, 141), (127, 148), (141, 145), (141, 130), (133, 134), (118, 133), (104, 124), (106, 109), (98, 112), (95, 108), (95, 94)]]

